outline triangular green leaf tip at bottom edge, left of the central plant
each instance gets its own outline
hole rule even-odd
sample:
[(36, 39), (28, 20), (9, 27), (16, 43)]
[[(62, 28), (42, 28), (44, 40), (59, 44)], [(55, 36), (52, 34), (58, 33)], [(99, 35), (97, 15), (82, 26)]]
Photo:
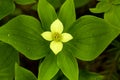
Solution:
[(37, 80), (37, 78), (31, 71), (15, 64), (15, 80)]

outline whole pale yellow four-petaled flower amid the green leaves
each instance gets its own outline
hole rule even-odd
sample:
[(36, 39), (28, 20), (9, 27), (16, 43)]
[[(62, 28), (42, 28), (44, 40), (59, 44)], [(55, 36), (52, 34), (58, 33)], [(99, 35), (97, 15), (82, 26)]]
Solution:
[(57, 55), (63, 48), (62, 42), (68, 42), (73, 39), (72, 35), (63, 32), (63, 24), (59, 19), (56, 19), (50, 26), (50, 31), (45, 31), (41, 36), (50, 42), (50, 49)]

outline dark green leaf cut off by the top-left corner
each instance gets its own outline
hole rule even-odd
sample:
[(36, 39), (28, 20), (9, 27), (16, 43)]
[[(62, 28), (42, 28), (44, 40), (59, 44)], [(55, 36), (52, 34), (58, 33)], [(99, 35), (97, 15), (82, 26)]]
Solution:
[(0, 0), (0, 20), (15, 10), (13, 0)]

